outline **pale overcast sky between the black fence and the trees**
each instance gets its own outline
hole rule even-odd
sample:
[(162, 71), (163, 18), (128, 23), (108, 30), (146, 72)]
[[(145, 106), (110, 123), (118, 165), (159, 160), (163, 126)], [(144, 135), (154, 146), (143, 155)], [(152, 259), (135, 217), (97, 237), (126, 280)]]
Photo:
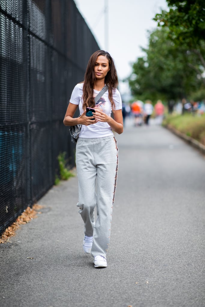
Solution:
[[(143, 55), (140, 46), (148, 46), (148, 30), (157, 23), (152, 20), (166, 0), (74, 0), (101, 49), (113, 57), (119, 80), (128, 77), (131, 63)], [(107, 13), (105, 13), (107, 7)], [(106, 36), (105, 36), (106, 34)], [(108, 37), (108, 39), (106, 38)], [(122, 87), (122, 91), (126, 88)]]

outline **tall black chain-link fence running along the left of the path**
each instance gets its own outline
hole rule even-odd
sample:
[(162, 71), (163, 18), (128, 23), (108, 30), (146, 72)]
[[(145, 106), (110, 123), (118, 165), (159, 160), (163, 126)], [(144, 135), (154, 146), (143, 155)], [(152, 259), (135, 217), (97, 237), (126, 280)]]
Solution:
[(73, 0), (0, 0), (0, 233), (75, 164), (63, 118), (99, 49)]

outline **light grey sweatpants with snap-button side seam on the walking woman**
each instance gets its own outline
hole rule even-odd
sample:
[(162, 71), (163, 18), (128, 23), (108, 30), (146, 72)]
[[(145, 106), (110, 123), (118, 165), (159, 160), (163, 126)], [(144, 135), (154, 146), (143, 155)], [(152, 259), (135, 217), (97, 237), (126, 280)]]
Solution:
[(78, 138), (76, 167), (79, 191), (77, 207), (80, 207), (85, 235), (93, 236), (91, 254), (93, 257), (101, 255), (106, 258), (118, 170), (118, 148), (113, 135)]

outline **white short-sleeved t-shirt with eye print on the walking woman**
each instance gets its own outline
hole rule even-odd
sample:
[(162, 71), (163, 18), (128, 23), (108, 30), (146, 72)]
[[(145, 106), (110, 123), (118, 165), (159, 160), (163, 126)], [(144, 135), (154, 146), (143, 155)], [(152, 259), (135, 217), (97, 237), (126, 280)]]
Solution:
[[(99, 92), (100, 91), (94, 90), (94, 97), (96, 97)], [(82, 95), (83, 95), (83, 83), (78, 83), (73, 89), (70, 98), (70, 103), (79, 105), (80, 114), (83, 113)], [(122, 109), (122, 100), (120, 92), (117, 89), (113, 91), (112, 98), (115, 103), (115, 110)], [(106, 91), (102, 95), (102, 97), (98, 100), (98, 103), (95, 105), (95, 109), (97, 108), (99, 108), (107, 115), (109, 116), (111, 115), (112, 107), (111, 107), (111, 102), (108, 98), (108, 91)], [(82, 125), (79, 138), (102, 138), (110, 135), (113, 135), (113, 132), (107, 122), (96, 122), (95, 124), (89, 126)]]

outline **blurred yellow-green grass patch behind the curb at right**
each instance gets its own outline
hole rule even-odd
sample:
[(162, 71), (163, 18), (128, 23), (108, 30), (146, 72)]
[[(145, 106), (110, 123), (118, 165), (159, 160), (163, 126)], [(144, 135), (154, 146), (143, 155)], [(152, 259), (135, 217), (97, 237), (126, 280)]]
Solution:
[(205, 145), (205, 114), (168, 115), (163, 121), (163, 126), (175, 128)]

